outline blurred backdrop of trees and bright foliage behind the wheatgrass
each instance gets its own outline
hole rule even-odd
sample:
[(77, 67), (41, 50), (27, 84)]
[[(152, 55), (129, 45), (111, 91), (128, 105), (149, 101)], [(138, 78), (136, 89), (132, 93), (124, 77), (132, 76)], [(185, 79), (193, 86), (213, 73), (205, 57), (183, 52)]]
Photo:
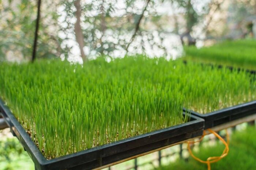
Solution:
[[(0, 60), (31, 57), (36, 3), (0, 0)], [(71, 62), (79, 56), (86, 60), (100, 55), (170, 58), (172, 49), (182, 52), (181, 43), (195, 45), (236, 32), (240, 37), (252, 35), (255, 4), (255, 0), (42, 1), (37, 55)]]

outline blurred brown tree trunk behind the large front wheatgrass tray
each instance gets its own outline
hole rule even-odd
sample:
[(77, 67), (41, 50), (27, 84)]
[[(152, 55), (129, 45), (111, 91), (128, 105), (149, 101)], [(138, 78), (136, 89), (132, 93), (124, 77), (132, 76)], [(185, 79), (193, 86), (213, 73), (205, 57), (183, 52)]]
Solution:
[(79, 44), (79, 48), (80, 48), (80, 53), (81, 53), (81, 57), (82, 59), (85, 61), (86, 55), (84, 54), (83, 51), (83, 47), (84, 47), (84, 36), (83, 36), (83, 31), (80, 25), (80, 17), (81, 17), (81, 5), (80, 5), (80, 0), (76, 0), (74, 3), (75, 7), (76, 7), (76, 12), (75, 12), (75, 16), (76, 16), (76, 23), (75, 23), (75, 36), (76, 36), (76, 41)]

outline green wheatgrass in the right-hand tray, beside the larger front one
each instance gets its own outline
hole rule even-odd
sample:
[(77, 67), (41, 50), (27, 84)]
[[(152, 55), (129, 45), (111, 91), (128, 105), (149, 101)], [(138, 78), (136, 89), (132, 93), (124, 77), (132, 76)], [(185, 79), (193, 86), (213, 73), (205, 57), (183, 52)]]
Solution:
[(200, 64), (196, 69), (189, 64), (187, 72), (184, 94), (193, 111), (205, 114), (256, 99), (255, 77), (249, 73)]

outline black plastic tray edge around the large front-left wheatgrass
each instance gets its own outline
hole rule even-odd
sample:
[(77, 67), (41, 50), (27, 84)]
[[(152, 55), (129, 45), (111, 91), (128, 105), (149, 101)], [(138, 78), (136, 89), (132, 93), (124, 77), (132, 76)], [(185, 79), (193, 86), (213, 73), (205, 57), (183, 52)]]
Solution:
[(47, 160), (1, 99), (0, 111), (10, 126), (12, 134), (19, 139), (32, 158), (36, 170), (93, 169), (101, 167), (177, 142), (199, 137), (203, 134), (204, 127), (203, 119), (191, 115), (187, 123)]

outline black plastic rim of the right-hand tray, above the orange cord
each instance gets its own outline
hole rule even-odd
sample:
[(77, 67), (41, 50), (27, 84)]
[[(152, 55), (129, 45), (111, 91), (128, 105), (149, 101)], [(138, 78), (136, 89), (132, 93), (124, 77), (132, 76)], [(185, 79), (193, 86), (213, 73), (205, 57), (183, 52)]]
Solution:
[(192, 110), (187, 110), (186, 108), (184, 108), (183, 111), (189, 112), (192, 115), (204, 119), (204, 129), (208, 129), (223, 123), (230, 122), (232, 120), (240, 119), (255, 114), (256, 100), (232, 107), (223, 108), (221, 110), (217, 110), (206, 114), (200, 114)]

